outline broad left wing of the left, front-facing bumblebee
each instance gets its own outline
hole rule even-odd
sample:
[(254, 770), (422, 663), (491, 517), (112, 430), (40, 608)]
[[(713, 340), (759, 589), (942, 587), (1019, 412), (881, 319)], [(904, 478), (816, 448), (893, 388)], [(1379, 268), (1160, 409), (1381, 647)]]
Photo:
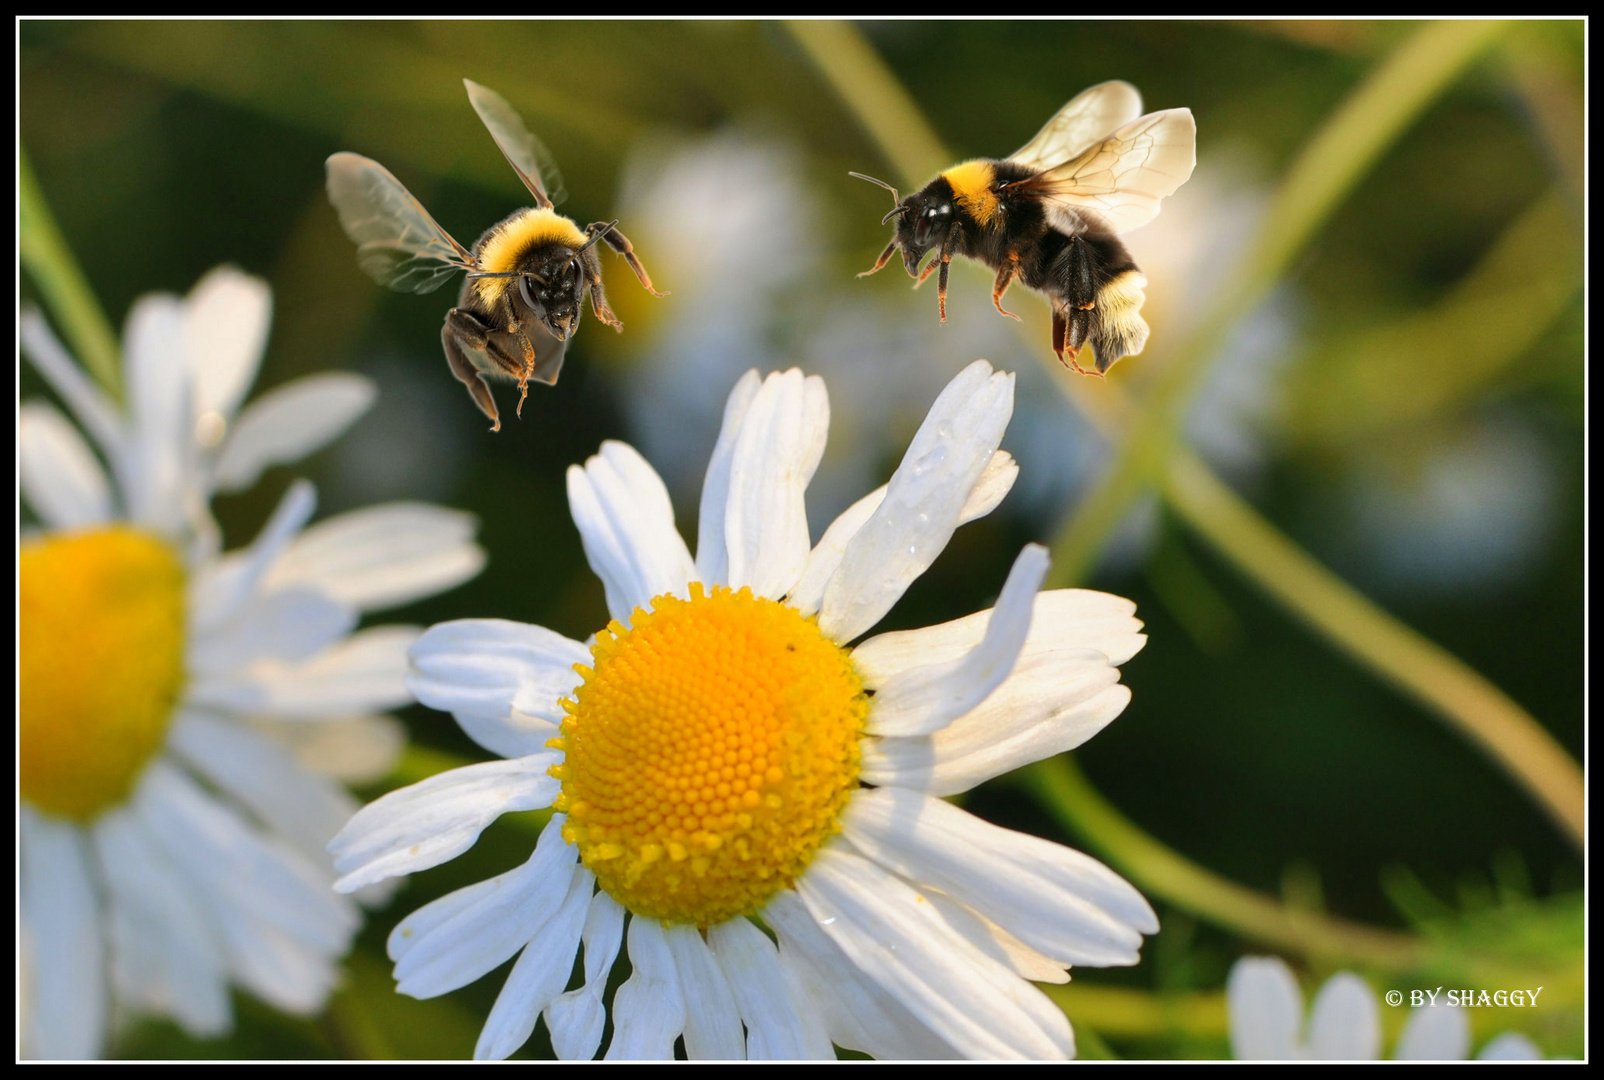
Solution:
[(329, 202), (356, 241), (356, 262), (382, 286), (433, 292), (459, 270), (475, 268), (472, 252), (369, 157), (345, 151), (329, 157)]

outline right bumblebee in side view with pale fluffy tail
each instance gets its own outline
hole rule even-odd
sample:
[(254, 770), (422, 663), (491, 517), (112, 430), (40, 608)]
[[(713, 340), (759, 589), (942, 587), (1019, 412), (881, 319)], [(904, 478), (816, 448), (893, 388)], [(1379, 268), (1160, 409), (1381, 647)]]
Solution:
[[(937, 286), (946, 321), (946, 268), (967, 255), (993, 268), (991, 303), (1015, 278), (1052, 303), (1052, 351), (1081, 374), (1102, 376), (1121, 356), (1142, 351), (1147, 323), (1140, 307), (1147, 279), (1118, 233), (1147, 225), (1158, 202), (1192, 175), (1197, 125), (1190, 109), (1142, 112), (1142, 95), (1128, 82), (1083, 90), (1025, 146), (1003, 160), (953, 165), (921, 191), (900, 199), (874, 177), (852, 173), (892, 193), (897, 233), (866, 278), (900, 247), (917, 282), (940, 266)], [(937, 258), (919, 271), (924, 257)], [(1096, 372), (1076, 363), (1083, 345), (1097, 355)]]

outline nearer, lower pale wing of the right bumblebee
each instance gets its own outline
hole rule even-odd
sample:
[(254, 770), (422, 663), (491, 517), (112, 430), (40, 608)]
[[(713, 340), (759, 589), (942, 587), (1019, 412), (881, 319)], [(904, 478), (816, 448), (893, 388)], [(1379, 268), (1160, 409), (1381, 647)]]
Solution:
[(1197, 164), (1192, 109), (1166, 109), (1139, 117), (1073, 159), (1017, 185), (1047, 204), (1059, 228), (1084, 228), (1086, 212), (1115, 233), (1158, 217), (1160, 201), (1187, 181)]

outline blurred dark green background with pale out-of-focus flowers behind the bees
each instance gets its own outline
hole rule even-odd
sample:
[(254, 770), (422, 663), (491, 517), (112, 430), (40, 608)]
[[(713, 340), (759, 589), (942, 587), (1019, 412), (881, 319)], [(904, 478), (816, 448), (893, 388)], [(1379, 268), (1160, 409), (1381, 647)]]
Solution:
[[(1148, 109), (1193, 111), (1193, 178), (1128, 236), (1148, 278), (1153, 337), (1148, 356), (1124, 359), (1110, 385), (1140, 395), (1168, 359), (1165, 335), (1174, 340), (1208, 303), (1296, 152), (1418, 27), (860, 29), (959, 156), (1012, 152), (1104, 79), (1136, 83)], [(966, 363), (986, 356), (1019, 372), (1004, 440), (1022, 465), (1019, 486), (958, 533), (889, 624), (988, 605), (1020, 544), (1049, 541), (1110, 461), (1044, 374), (1046, 334), (1022, 337), (991, 310), (990, 273), (954, 274), (946, 326), (934, 289), (911, 292), (895, 265), (853, 276), (889, 239), (879, 225), (889, 205), (847, 172), (895, 172), (783, 26), (29, 21), (19, 71), (22, 143), (114, 323), (144, 292), (184, 292), (209, 268), (237, 263), (266, 278), (276, 302), (258, 392), (324, 369), (379, 382), (374, 411), (330, 449), (220, 501), (231, 546), (253, 536), (292, 475), (318, 485), (321, 515), (427, 499), (480, 517), (486, 571), (399, 621), (500, 616), (592, 634), (606, 610), (568, 517), (563, 470), (605, 438), (632, 441), (695, 531), (723, 398), (752, 366), (799, 364), (829, 387), (831, 443), (810, 491), (815, 536), (890, 473)], [(550, 146), (569, 191), (560, 209), (581, 225), (618, 217), (670, 292), (653, 300), (603, 255), (624, 334), (585, 319), (561, 380), (531, 387), (521, 420), (510, 416), (516, 398), (499, 395), (499, 435), (439, 351), (454, 286), (428, 297), (375, 286), (322, 188), (330, 152), (366, 154), (464, 244), (525, 205), (462, 77), (507, 96)], [(1503, 688), (1577, 757), (1582, 77), (1580, 22), (1506, 32), (1386, 149), (1235, 327), (1185, 420), (1192, 446), (1267, 518)], [(24, 303), (32, 287), (24, 276)], [(1009, 307), (1041, 303), (1019, 289)], [(21, 385), (24, 396), (45, 393), (26, 367)], [(1083, 379), (1068, 390), (1096, 398), (1110, 385)], [(1578, 912), (1575, 847), (1501, 770), (1266, 602), (1156, 501), (1126, 515), (1088, 584), (1132, 597), (1150, 640), (1123, 669), (1129, 709), (1078, 761), (1152, 836), (1243, 886), (1375, 926), (1418, 926), (1421, 908), (1402, 897), (1429, 894), (1469, 947), (1479, 932), (1508, 936), (1476, 931), (1476, 918)], [(406, 719), (425, 746), (484, 757), (448, 716), (414, 708)], [(1075, 842), (1007, 782), (967, 806)], [(468, 1054), (502, 976), (439, 1001), (398, 998), (383, 936), (401, 913), (521, 860), (531, 836), (502, 823), (470, 855), (403, 887), (371, 921), (332, 1017), (290, 1021), (241, 1000), (226, 1041), (138, 1024), (119, 1051)], [(1262, 950), (1156, 907), (1165, 931), (1139, 968), (1076, 971), (1075, 985), (1208, 995), (1235, 956)], [(1538, 950), (1578, 966), (1580, 915), (1559, 924)], [(1582, 1053), (1580, 1013), (1476, 1022), (1477, 1043), (1524, 1025), (1551, 1054)], [(1078, 1030), (1092, 1027), (1078, 1019)], [(1118, 1027), (1105, 1043), (1083, 1037), (1083, 1050), (1225, 1048), (1217, 1022)]]

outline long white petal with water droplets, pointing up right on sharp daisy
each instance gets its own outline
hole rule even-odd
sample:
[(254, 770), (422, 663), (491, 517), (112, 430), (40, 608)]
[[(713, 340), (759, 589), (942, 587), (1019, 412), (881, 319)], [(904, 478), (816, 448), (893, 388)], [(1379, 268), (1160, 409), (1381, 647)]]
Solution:
[(942, 554), (1012, 412), (1014, 376), (983, 359), (946, 384), (824, 587), (818, 624), (831, 640), (874, 626)]

